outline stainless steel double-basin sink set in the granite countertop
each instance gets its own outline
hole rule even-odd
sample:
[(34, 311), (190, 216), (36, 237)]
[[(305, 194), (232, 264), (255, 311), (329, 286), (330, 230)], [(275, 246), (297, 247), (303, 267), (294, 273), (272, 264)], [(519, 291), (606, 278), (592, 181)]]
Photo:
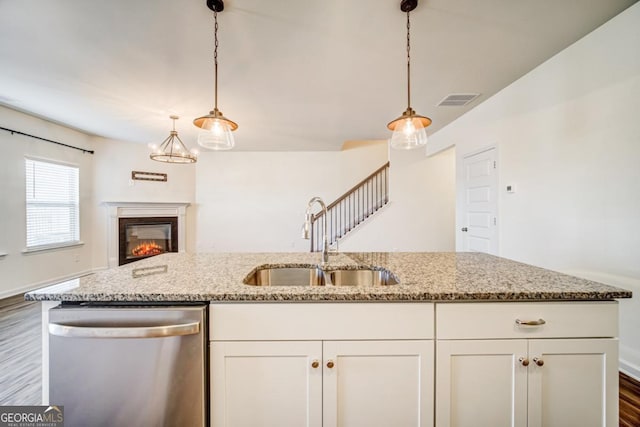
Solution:
[(244, 279), (254, 286), (389, 286), (398, 278), (380, 267), (323, 269), (320, 266), (263, 266)]

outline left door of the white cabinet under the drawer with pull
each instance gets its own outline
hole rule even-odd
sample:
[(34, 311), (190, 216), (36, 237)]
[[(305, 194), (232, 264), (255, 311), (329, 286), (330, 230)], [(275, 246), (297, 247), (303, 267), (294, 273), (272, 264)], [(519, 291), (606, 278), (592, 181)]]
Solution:
[(526, 340), (438, 341), (438, 427), (526, 426)]

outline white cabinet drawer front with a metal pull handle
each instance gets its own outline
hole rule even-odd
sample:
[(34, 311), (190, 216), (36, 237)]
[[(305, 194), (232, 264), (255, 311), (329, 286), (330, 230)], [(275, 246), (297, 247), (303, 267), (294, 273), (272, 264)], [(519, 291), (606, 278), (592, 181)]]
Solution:
[[(517, 320), (539, 324), (518, 324)], [(618, 303), (616, 301), (436, 305), (437, 339), (616, 336), (618, 336)]]

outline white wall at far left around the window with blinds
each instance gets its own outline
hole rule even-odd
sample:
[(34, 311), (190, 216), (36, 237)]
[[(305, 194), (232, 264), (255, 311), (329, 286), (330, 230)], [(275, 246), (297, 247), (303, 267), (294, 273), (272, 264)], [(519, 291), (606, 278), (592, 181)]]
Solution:
[[(91, 138), (15, 110), (0, 107), (0, 126), (88, 150)], [(89, 271), (92, 263), (94, 156), (71, 148), (0, 131), (0, 299), (43, 283)], [(25, 254), (25, 156), (77, 165), (80, 169), (80, 239), (82, 246)]]

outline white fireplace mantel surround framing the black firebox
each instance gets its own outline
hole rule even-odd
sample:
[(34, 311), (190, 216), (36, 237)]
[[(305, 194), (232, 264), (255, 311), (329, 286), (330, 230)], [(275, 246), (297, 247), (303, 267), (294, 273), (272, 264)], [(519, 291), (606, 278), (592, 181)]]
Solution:
[(107, 207), (109, 268), (118, 266), (118, 221), (120, 218), (174, 216), (178, 218), (178, 252), (185, 252), (188, 202), (103, 202)]

